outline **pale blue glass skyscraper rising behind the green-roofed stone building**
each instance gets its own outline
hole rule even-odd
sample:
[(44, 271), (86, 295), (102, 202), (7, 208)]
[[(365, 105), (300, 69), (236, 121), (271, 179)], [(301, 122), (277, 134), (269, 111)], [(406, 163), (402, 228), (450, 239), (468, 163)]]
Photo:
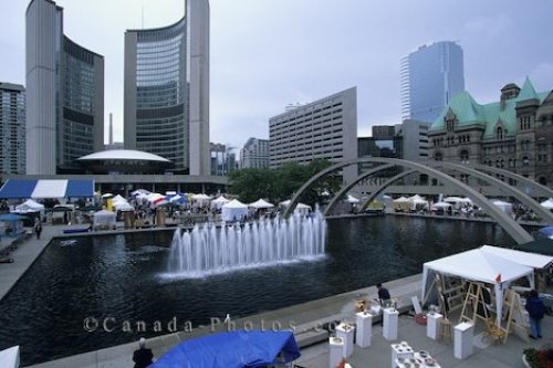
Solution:
[(422, 45), (401, 59), (401, 119), (434, 123), (462, 91), (463, 57), (457, 43)]

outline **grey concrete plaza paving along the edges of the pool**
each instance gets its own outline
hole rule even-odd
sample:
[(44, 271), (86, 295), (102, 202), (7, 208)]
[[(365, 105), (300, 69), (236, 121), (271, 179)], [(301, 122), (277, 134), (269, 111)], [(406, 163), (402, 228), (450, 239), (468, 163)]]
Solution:
[[(32, 238), (25, 240), (10, 255), (13, 263), (0, 264), (0, 297), (6, 295), (14, 282), (32, 264), (34, 259), (42, 252), (44, 246), (53, 236), (64, 236), (62, 225), (46, 225), (40, 240)], [(75, 234), (71, 234), (75, 236)], [(2, 240), (4, 241), (4, 240)], [(410, 296), (418, 295), (420, 290), (420, 275), (414, 275), (396, 281), (385, 281), (385, 286), (390, 290), (394, 297), (398, 298), (398, 308), (403, 312), (410, 309)], [(551, 291), (549, 291), (551, 293)], [(354, 302), (361, 297), (373, 299), (376, 297), (376, 287), (334, 295), (331, 297), (312, 301), (286, 308), (270, 311), (254, 316), (232, 318), (236, 328), (251, 327), (271, 328), (276, 326), (296, 326), (295, 335), (299, 344), (305, 344), (315, 338), (317, 341), (312, 346), (302, 347), (302, 356), (295, 361), (298, 366), (309, 368), (328, 367), (328, 344), (327, 335), (313, 336), (310, 332), (314, 326), (322, 326), (328, 322), (348, 320), (355, 322)], [(455, 319), (452, 318), (455, 322)], [(382, 327), (378, 323), (373, 326), (372, 346), (359, 348), (355, 346), (353, 356), (348, 362), (356, 368), (390, 367), (390, 344), (397, 341), (409, 343), (415, 350), (427, 350), (437, 359), (441, 367), (471, 367), (471, 368), (493, 368), (493, 367), (524, 367), (521, 356), (526, 347), (542, 347), (545, 344), (553, 345), (553, 318), (546, 316), (543, 319), (543, 339), (523, 341), (514, 335), (510, 335), (505, 344), (493, 344), (482, 340), (481, 326), (477, 325), (477, 336), (474, 338), (474, 350), (471, 356), (460, 360), (453, 357), (453, 344), (447, 341), (436, 341), (426, 336), (426, 328), (417, 323), (413, 316), (404, 313), (399, 316), (398, 338), (388, 341), (383, 337)], [(192, 332), (179, 332), (148, 339), (148, 347), (153, 348), (155, 357), (173, 348), (178, 343), (210, 334), (213, 330), (225, 330), (226, 326), (205, 326), (195, 328)], [(311, 334), (311, 335), (310, 335)], [(48, 336), (44, 336), (48, 338)], [(90, 351), (76, 356), (62, 358), (49, 362), (31, 366), (33, 368), (121, 368), (132, 367), (132, 355), (137, 348), (137, 343), (125, 344), (112, 348)]]

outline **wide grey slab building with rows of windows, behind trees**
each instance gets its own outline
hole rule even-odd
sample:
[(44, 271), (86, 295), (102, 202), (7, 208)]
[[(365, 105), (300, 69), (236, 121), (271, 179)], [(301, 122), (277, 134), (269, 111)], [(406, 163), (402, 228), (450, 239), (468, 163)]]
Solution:
[[(352, 87), (269, 119), (269, 165), (333, 162), (357, 158), (357, 87)], [(355, 178), (356, 168), (344, 169)]]

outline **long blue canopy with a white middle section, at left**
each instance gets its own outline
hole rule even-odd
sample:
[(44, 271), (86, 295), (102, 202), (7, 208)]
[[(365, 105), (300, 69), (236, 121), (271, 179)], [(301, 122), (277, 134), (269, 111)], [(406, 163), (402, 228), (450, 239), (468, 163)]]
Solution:
[(8, 179), (0, 198), (93, 197), (94, 180), (85, 179)]

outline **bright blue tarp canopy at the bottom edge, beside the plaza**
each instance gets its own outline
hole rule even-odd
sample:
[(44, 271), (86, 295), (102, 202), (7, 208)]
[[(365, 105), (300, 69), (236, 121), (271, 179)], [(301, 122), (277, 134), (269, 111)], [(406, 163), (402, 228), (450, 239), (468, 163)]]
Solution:
[(262, 368), (300, 357), (291, 332), (229, 332), (180, 343), (150, 368)]

